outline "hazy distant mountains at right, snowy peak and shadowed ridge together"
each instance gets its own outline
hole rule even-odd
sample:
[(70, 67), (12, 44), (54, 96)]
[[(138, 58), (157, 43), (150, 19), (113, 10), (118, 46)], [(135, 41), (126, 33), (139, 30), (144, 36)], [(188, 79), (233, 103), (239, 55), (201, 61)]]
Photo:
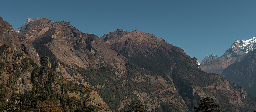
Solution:
[(256, 95), (255, 43), (256, 37), (249, 40), (237, 40), (221, 57), (213, 54), (206, 56), (200, 68), (205, 72), (218, 73)]

